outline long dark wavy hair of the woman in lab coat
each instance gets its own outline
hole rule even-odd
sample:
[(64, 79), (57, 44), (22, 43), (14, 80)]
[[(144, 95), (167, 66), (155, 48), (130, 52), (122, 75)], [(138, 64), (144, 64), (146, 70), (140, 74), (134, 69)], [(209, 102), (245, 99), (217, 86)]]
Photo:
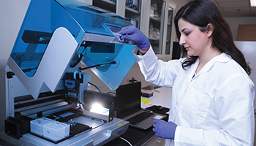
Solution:
[[(247, 74), (251, 74), (252, 69), (246, 63), (243, 53), (236, 47), (233, 42), (233, 36), (230, 26), (222, 17), (218, 7), (208, 0), (195, 0), (185, 4), (176, 13), (174, 23), (176, 27), (177, 37), (181, 37), (181, 32), (178, 30), (178, 20), (183, 19), (187, 22), (198, 26), (200, 31), (207, 31), (206, 26), (211, 23), (214, 26), (212, 34), (211, 47), (217, 48), (221, 53), (230, 55), (240, 66), (245, 70)], [(186, 67), (195, 64), (198, 56), (188, 56), (187, 50), (181, 46), (182, 55), (187, 56), (187, 60), (183, 62), (182, 67)]]

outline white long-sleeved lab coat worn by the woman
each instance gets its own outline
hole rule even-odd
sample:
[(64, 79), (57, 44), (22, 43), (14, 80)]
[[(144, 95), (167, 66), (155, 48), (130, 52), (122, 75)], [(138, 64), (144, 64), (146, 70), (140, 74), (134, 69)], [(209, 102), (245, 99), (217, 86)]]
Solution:
[(169, 121), (178, 126), (165, 145), (253, 145), (254, 84), (229, 55), (212, 58), (198, 74), (198, 60), (184, 70), (184, 58), (163, 62), (152, 48), (135, 57), (148, 82), (173, 88)]

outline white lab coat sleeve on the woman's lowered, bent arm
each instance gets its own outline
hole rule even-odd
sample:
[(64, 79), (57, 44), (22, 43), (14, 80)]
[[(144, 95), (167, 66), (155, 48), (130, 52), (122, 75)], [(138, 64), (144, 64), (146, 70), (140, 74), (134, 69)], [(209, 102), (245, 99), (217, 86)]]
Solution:
[(178, 126), (175, 145), (253, 145), (255, 114), (254, 84), (246, 75), (230, 77), (219, 87), (214, 107), (219, 116), (218, 130)]

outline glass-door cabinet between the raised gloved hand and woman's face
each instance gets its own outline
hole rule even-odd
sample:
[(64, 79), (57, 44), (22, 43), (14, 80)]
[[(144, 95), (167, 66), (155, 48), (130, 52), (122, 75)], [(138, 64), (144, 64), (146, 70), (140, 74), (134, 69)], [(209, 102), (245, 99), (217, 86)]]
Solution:
[(140, 28), (148, 37), (154, 53), (162, 60), (170, 60), (173, 49), (174, 27), (173, 15), (176, 4), (170, 0), (143, 1), (141, 15), (146, 18), (142, 20)]

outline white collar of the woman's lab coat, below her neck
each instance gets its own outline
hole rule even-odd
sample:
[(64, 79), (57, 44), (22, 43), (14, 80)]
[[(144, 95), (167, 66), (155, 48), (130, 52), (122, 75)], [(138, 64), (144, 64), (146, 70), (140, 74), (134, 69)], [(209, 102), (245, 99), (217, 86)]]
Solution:
[[(217, 55), (217, 56), (215, 56), (214, 58), (212, 58), (210, 61), (208, 61), (208, 63), (207, 63), (205, 66), (203, 66), (203, 68), (198, 72), (197, 75), (203, 74), (203, 73), (205, 73), (205, 72), (208, 72), (208, 71), (211, 69), (211, 67), (214, 66), (214, 64), (215, 64), (216, 62), (225, 63), (225, 62), (227, 62), (227, 61), (230, 61), (230, 59), (231, 59), (230, 55), (227, 55), (226, 53), (222, 53), (222, 54), (220, 54), (220, 55)], [(189, 74), (189, 78), (190, 78), (190, 79), (194, 76), (195, 70), (197, 69), (198, 64), (199, 64), (199, 58), (197, 58), (197, 61), (196, 61), (195, 64), (193, 65), (192, 73)], [(196, 76), (197, 76), (197, 75), (196, 75)], [(190, 77), (190, 76), (191, 76), (191, 77)], [(195, 78), (195, 77), (194, 77), (194, 78)]]

